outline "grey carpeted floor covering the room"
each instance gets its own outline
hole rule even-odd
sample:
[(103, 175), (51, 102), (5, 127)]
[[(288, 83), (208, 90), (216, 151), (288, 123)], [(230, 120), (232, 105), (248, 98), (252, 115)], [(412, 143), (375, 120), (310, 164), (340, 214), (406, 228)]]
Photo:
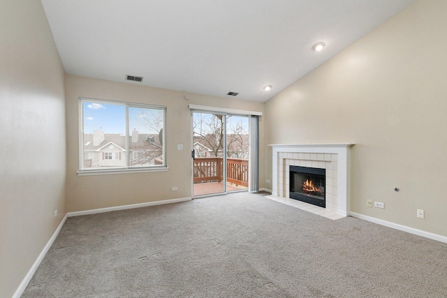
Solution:
[(447, 244), (233, 193), (68, 218), (22, 297), (447, 297)]

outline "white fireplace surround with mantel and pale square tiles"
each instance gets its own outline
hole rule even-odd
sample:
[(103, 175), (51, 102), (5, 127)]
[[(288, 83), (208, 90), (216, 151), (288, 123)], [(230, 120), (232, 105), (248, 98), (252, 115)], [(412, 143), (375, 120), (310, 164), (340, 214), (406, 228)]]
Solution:
[[(296, 204), (299, 204), (302, 209), (308, 209), (316, 214), (323, 215), (323, 211), (327, 211), (327, 214), (335, 214), (332, 219), (346, 216), (349, 213), (349, 156), (352, 145), (271, 144), (273, 149), (272, 199), (279, 202), (288, 200), (289, 165), (317, 167), (326, 170), (325, 210), (322, 207), (315, 207), (311, 210), (310, 207), (314, 205), (305, 202), (296, 201)], [(306, 208), (307, 205), (309, 205), (308, 208)]]

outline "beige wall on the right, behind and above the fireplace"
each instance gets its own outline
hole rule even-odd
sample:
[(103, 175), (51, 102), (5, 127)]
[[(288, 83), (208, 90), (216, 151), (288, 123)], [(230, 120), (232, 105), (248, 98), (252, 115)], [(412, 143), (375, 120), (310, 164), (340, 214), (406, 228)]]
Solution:
[(447, 236), (446, 13), (416, 1), (268, 100), (266, 178), (268, 144), (352, 142), (351, 211)]

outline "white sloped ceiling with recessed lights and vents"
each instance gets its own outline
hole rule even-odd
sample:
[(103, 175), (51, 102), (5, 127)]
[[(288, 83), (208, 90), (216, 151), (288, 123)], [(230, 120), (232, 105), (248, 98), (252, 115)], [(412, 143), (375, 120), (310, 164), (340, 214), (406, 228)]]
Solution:
[(413, 1), (42, 3), (66, 73), (265, 102)]

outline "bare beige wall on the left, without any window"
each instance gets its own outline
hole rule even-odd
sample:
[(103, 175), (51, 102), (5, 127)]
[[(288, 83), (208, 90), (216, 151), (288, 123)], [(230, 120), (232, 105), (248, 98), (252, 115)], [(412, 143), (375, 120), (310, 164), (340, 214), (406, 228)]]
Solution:
[(2, 1), (0, 297), (14, 294), (66, 214), (64, 80), (41, 1)]

